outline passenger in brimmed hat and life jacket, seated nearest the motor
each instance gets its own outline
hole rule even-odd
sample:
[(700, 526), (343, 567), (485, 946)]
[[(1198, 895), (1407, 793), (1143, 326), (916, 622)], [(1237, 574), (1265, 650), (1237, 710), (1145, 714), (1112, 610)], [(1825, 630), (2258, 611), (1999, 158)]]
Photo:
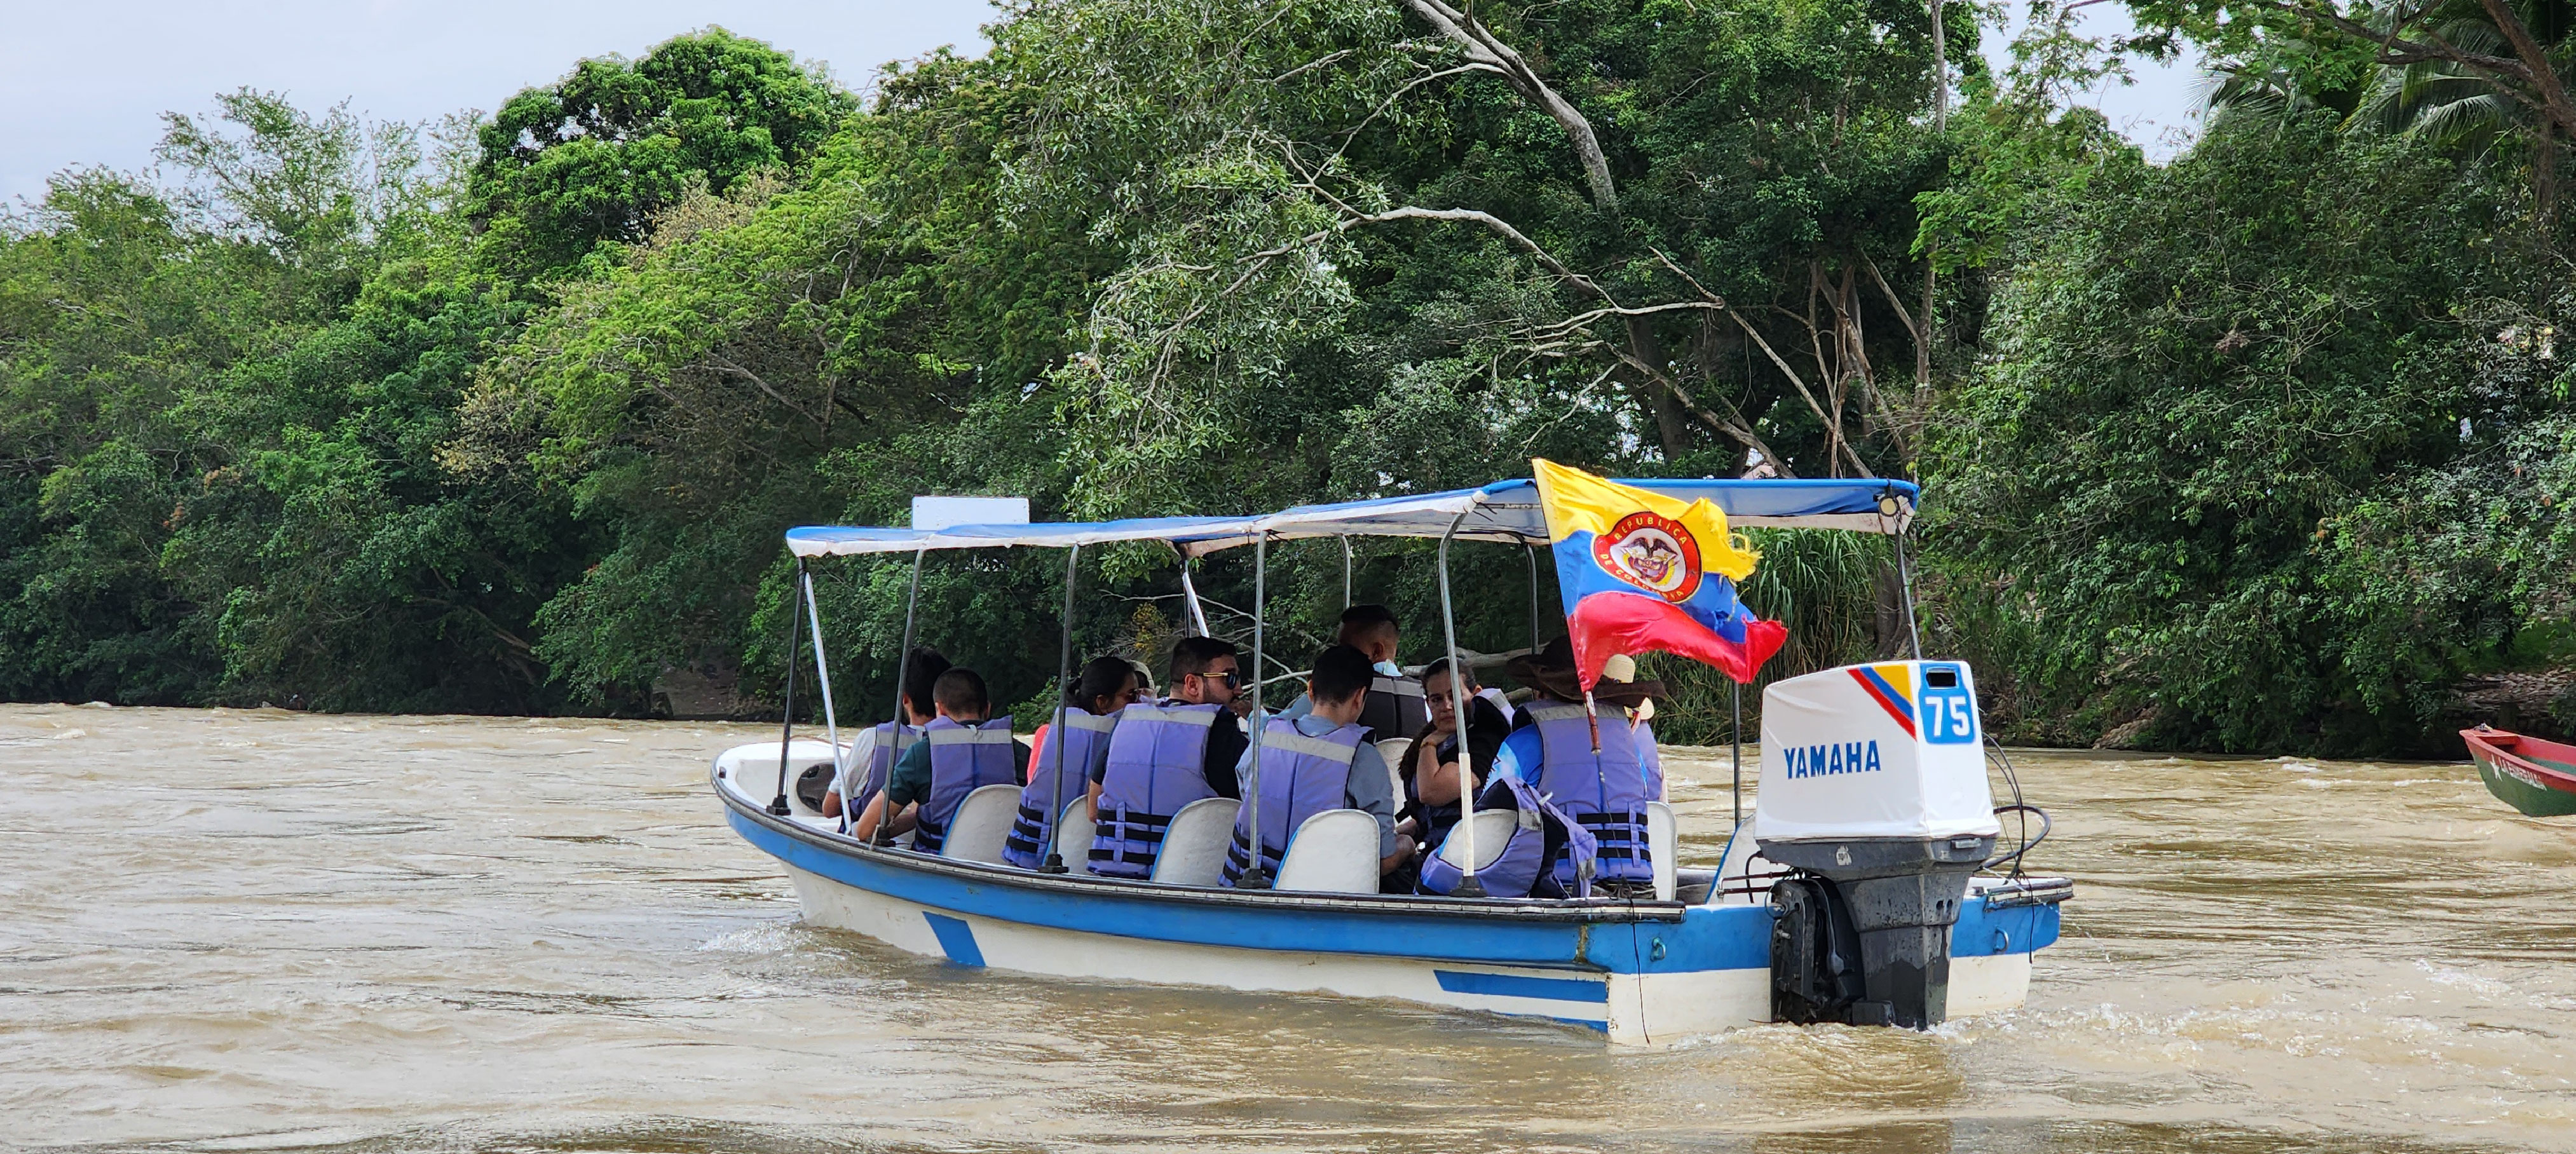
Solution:
[[(1584, 716), (1584, 690), (1574, 677), (1574, 647), (1566, 639), (1548, 641), (1530, 657), (1515, 657), (1510, 672), (1512, 680), (1538, 690), (1538, 698), (1520, 711), (1520, 729), (1512, 729), (1512, 737), (1494, 752), (1494, 786), (1476, 796), (1479, 809), (1510, 806), (1497, 793), (1499, 778), (1520, 778), (1592, 835), (1600, 853), (1600, 881), (1651, 886), (1646, 804), (1664, 799), (1664, 762), (1646, 719), (1654, 708), (1649, 698), (1662, 695), (1664, 683), (1615, 675), (1633, 675), (1633, 662), (1602, 670), (1602, 680), (1592, 685), (1592, 701), (1600, 711), (1600, 726), (1595, 726)], [(1600, 732), (1600, 752), (1592, 750), (1595, 729)], [(1551, 876), (1574, 889), (1574, 860), (1551, 860)]]

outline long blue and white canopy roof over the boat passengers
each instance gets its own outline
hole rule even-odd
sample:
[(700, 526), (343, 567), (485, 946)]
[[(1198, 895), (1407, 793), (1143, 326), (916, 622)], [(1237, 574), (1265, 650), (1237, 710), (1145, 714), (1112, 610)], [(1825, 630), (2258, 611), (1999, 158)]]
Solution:
[[(1914, 482), (1893, 479), (1643, 479), (1620, 482), (1677, 500), (1708, 497), (1726, 510), (1731, 525), (1844, 528), (1855, 533), (1904, 533), (1914, 520)], [(1880, 513), (1880, 497), (1896, 507)], [(920, 549), (1007, 549), (1007, 546), (1095, 546), (1110, 541), (1170, 541), (1188, 556), (1249, 546), (1267, 536), (1298, 541), (1316, 536), (1425, 536), (1437, 538), (1458, 525), (1461, 541), (1546, 544), (1548, 520), (1538, 510), (1538, 484), (1528, 477), (1481, 489), (1448, 489), (1404, 497), (1298, 505), (1255, 518), (1128, 518), (1092, 523), (1033, 525), (951, 525), (858, 528), (804, 525), (788, 531), (796, 556), (909, 554)]]

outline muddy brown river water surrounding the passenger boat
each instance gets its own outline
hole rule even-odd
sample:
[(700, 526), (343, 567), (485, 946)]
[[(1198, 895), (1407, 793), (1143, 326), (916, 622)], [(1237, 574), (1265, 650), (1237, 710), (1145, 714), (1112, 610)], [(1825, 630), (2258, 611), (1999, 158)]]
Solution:
[(0, 706), (0, 1144), (2576, 1151), (2576, 819), (2468, 765), (2025, 752), (2025, 1010), (1607, 1051), (806, 930), (706, 786), (765, 734)]

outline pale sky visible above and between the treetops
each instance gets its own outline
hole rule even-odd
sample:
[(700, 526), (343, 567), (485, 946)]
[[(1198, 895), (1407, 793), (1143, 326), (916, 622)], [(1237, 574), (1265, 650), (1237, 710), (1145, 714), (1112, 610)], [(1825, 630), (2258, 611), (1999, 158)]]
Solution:
[[(160, 113), (204, 113), (214, 93), (281, 90), (307, 108), (350, 100), (363, 118), (430, 121), (492, 111), (574, 59), (639, 57), (721, 23), (848, 85), (943, 44), (981, 52), (984, 0), (0, 0), (0, 203), (44, 196), (52, 173), (152, 165)], [(2089, 18), (2125, 21), (2117, 5)], [(1989, 36), (1996, 41), (1999, 36)], [(2094, 103), (2166, 160), (2190, 116), (2192, 70), (2141, 70)]]

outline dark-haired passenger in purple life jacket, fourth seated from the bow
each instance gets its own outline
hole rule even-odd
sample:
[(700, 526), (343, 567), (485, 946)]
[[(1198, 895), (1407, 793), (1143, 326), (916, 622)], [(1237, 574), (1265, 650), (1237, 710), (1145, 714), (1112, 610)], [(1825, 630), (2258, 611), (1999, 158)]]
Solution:
[[(1396, 804), (1386, 760), (1368, 744), (1370, 729), (1360, 724), (1373, 677), (1368, 654), (1337, 644), (1314, 657), (1306, 680), (1306, 698), (1314, 708), (1306, 716), (1278, 716), (1262, 726), (1260, 747), (1260, 860), (1262, 873), (1275, 876), (1288, 835), (1309, 817), (1327, 809), (1360, 809), (1378, 819), (1378, 876), (1401, 871), (1414, 842), (1396, 832)], [(1252, 773), (1252, 750), (1236, 775)], [(1226, 850), (1226, 886), (1242, 881), (1252, 868), (1252, 814), (1244, 806), (1234, 817), (1234, 845)], [(1406, 886), (1412, 889), (1412, 886)]]

